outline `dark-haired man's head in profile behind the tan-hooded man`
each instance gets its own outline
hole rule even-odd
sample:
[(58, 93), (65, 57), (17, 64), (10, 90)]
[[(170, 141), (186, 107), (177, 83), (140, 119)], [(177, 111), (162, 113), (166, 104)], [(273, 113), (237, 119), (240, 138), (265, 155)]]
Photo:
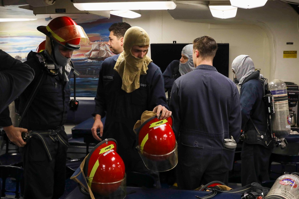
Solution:
[(112, 53), (118, 55), (123, 52), (123, 37), (130, 27), (130, 24), (126, 22), (114, 23), (109, 27), (110, 34), (108, 45), (110, 46)]

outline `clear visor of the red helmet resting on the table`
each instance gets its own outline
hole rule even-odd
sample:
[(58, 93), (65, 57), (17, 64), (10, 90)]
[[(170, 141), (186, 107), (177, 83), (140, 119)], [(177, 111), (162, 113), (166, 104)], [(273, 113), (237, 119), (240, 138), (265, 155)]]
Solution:
[(86, 178), (91, 182), (91, 192), (95, 199), (123, 199), (126, 197), (126, 174), (123, 179), (117, 182), (100, 183), (94, 182), (91, 178)]

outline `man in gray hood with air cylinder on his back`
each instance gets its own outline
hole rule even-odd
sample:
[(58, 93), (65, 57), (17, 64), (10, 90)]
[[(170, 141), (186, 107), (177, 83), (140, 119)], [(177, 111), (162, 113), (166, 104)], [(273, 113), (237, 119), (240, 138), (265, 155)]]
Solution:
[[(239, 81), (241, 129), (248, 138), (257, 136), (254, 125), (259, 131), (266, 132), (268, 124), (265, 104), (262, 100), (263, 85), (259, 80), (260, 72), (255, 70), (253, 61), (248, 55), (237, 56), (232, 63), (232, 69)], [(270, 145), (248, 144), (248, 140), (244, 140), (241, 152), (242, 186), (269, 180), (268, 165), (271, 152)]]

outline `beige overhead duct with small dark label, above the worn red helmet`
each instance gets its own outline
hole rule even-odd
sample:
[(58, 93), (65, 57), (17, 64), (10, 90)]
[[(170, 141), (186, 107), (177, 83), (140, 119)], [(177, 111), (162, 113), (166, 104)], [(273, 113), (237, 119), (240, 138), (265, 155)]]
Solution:
[[(46, 0), (45, 0), (46, 1)], [(88, 11), (88, 10), (78, 10), (74, 7), (74, 4), (71, 0), (57, 0), (53, 5), (42, 6), (42, 7), (33, 7), (33, 14), (86, 14), (86, 15), (95, 15), (98, 18), (110, 18), (110, 10), (104, 11)]]

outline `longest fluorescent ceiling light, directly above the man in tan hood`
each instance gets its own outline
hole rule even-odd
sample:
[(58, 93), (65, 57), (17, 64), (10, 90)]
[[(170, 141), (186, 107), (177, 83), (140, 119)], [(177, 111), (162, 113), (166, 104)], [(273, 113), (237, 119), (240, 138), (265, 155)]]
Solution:
[(74, 3), (78, 10), (173, 10), (173, 1)]

